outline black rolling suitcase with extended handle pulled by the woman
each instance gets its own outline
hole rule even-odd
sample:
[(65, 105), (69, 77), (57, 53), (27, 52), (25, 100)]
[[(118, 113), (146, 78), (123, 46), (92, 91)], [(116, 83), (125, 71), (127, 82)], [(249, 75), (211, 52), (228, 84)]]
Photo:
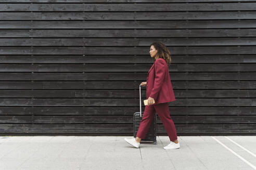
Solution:
[[(139, 84), (139, 112), (135, 112), (133, 115), (133, 136), (136, 137), (140, 121), (142, 120), (142, 93), (140, 90), (141, 84)], [(157, 145), (157, 114), (155, 113), (154, 119), (148, 129), (145, 139), (141, 141), (153, 141), (154, 145)]]

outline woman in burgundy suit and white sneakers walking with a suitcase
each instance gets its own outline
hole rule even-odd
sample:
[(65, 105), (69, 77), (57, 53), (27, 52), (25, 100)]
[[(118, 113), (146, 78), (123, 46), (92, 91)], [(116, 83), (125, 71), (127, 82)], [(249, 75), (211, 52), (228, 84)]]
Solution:
[[(147, 81), (141, 83), (141, 86), (146, 86), (147, 88), (148, 105), (145, 107), (136, 138), (124, 138), (124, 140), (139, 148), (140, 140), (146, 137), (149, 126), (157, 112), (171, 140), (171, 143), (163, 148), (177, 149), (180, 148), (180, 143), (177, 140), (175, 125), (170, 117), (168, 105), (168, 102), (175, 101), (168, 68), (171, 63), (170, 51), (163, 43), (156, 41), (150, 45), (149, 53), (155, 62), (149, 69)], [(155, 104), (153, 104), (154, 101)]]

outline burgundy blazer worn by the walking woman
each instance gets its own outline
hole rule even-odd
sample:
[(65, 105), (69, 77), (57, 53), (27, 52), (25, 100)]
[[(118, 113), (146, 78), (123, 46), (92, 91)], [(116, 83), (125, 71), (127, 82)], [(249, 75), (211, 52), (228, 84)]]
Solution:
[(155, 104), (175, 101), (169, 68), (164, 59), (157, 59), (147, 74), (147, 99), (152, 97)]

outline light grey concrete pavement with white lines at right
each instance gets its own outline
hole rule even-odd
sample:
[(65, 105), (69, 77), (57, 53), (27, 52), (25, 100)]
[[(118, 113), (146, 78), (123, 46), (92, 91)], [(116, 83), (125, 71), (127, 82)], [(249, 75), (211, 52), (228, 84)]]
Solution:
[(256, 136), (178, 136), (181, 148), (132, 136), (0, 136), (0, 169), (256, 169)]

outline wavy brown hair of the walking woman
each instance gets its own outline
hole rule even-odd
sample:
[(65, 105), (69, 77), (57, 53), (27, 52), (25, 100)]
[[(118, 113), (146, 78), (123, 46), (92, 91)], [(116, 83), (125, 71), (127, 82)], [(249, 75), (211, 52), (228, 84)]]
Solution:
[[(162, 58), (165, 60), (165, 62), (170, 65), (172, 62), (171, 59), (171, 52), (169, 51), (169, 49), (167, 48), (167, 46), (165, 46), (161, 41), (155, 41), (152, 44), (150, 44), (150, 47), (154, 46), (155, 49), (157, 50), (157, 54), (158, 58)], [(153, 61), (155, 62), (156, 59), (153, 58)]]

